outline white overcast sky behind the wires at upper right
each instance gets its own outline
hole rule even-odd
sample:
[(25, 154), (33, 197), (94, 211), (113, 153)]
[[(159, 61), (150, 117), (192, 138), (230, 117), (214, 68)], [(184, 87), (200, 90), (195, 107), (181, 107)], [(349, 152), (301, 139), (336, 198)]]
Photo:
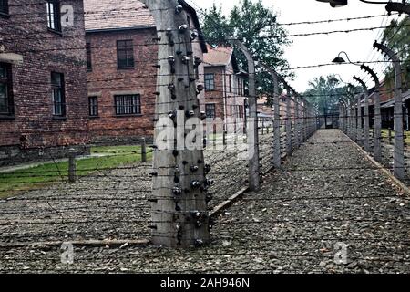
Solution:
[[(209, 8), (213, 3), (222, 5), (224, 13), (228, 13), (240, 0), (189, 0), (195, 8)], [(327, 3), (315, 0), (263, 0), (267, 7), (272, 7), (279, 15), (279, 23), (294, 23), (302, 21), (317, 21), (327, 19), (348, 18), (357, 16), (376, 16), (371, 19), (351, 20), (349, 22), (324, 23), (319, 25), (284, 26), (289, 34), (324, 32), (332, 30), (346, 30), (374, 26), (386, 26), (397, 16), (387, 16), (385, 5), (369, 5), (358, 0), (349, 0), (349, 5), (341, 8), (332, 8)], [(200, 11), (198, 11), (200, 16)], [(373, 50), (373, 43), (380, 36), (381, 29), (374, 31), (352, 32), (349, 34), (338, 33), (324, 36), (295, 36), (293, 44), (286, 50), (285, 58), (291, 68), (331, 63), (340, 51), (345, 51), (352, 61), (382, 60), (383, 56)], [(346, 59), (343, 56), (344, 59)], [(374, 68), (379, 78), (383, 78), (384, 63), (368, 64)], [(297, 69), (294, 71), (296, 78), (290, 82), (292, 87), (303, 92), (308, 87), (308, 82), (314, 77), (328, 74), (340, 74), (345, 82), (352, 82), (354, 75), (363, 78), (369, 87), (374, 84), (368, 75), (354, 65), (329, 66), (323, 68)]]

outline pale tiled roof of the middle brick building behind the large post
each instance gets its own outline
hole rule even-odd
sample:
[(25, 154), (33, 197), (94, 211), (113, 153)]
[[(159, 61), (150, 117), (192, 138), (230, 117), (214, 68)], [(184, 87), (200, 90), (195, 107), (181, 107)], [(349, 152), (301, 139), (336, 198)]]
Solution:
[[(200, 47), (206, 53), (207, 46), (197, 12), (184, 0), (179, 0), (179, 4), (192, 17), (192, 22), (199, 33)], [(156, 28), (149, 9), (138, 0), (84, 0), (84, 12), (87, 33)]]

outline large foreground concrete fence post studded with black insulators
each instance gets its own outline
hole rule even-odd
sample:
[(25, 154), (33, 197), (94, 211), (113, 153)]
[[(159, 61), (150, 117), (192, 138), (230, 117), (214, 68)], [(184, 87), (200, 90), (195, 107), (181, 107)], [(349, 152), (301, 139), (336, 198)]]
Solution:
[[(203, 139), (188, 140), (190, 129), (200, 129), (198, 92), (194, 76), (192, 31), (186, 5), (178, 0), (141, 0), (157, 27), (158, 79), (152, 173), (151, 242), (171, 248), (190, 248), (210, 241), (207, 207), (210, 180), (203, 155)], [(167, 139), (164, 139), (166, 134)], [(187, 147), (187, 143), (193, 147)], [(136, 230), (138, 232), (138, 230)]]

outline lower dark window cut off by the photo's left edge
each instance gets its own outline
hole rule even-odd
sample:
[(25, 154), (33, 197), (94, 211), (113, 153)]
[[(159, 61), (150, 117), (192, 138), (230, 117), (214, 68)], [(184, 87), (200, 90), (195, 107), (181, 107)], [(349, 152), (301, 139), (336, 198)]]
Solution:
[(0, 63), (0, 115), (14, 114), (11, 65)]

